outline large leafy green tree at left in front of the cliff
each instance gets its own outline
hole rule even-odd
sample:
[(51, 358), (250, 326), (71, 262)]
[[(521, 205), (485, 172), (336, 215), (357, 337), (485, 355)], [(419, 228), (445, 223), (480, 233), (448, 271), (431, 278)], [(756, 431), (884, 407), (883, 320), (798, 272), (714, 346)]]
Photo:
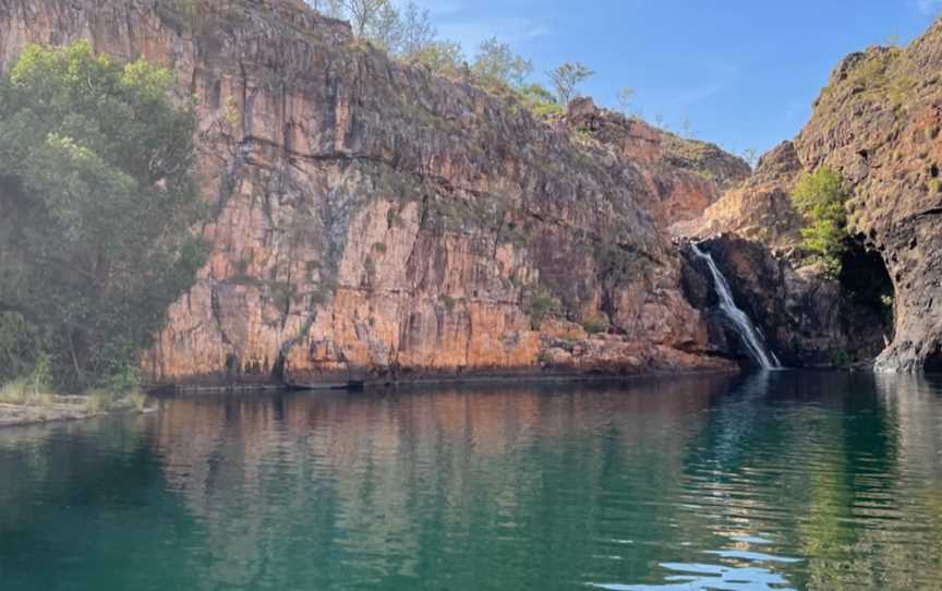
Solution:
[(128, 387), (206, 248), (170, 74), (29, 46), (0, 76), (0, 379)]

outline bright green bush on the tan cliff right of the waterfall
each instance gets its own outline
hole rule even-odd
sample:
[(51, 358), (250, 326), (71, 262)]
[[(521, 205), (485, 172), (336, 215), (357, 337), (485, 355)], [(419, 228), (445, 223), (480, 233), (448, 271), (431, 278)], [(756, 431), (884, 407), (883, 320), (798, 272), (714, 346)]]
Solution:
[(829, 275), (841, 273), (847, 249), (847, 189), (841, 176), (821, 167), (804, 174), (792, 194), (795, 207), (806, 219), (801, 230), (805, 248), (824, 265)]

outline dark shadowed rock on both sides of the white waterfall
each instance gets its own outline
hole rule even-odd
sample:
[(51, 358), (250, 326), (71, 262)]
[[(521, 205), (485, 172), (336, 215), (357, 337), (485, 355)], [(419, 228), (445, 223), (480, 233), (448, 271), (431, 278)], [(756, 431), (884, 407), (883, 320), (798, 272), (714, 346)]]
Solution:
[[(807, 267), (796, 272), (763, 244), (734, 234), (699, 245), (713, 256), (729, 282), (736, 305), (762, 330), (783, 365), (843, 366), (872, 361), (883, 349), (879, 305), (856, 298), (840, 281)], [(716, 353), (748, 359), (728, 318), (717, 309), (705, 264), (688, 249), (684, 252), (685, 293), (704, 312)]]

